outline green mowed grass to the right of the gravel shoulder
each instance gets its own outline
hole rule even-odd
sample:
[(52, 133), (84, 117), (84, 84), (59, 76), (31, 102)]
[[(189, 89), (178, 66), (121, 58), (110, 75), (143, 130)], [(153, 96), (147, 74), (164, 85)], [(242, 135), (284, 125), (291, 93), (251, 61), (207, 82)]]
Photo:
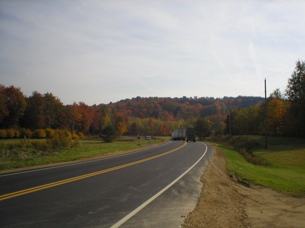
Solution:
[(265, 150), (264, 137), (255, 136), (255, 139), (261, 146), (253, 150), (253, 154), (266, 159), (270, 166), (251, 164), (236, 151), (219, 146), (226, 157), (228, 171), (253, 184), (305, 196), (305, 140), (268, 137), (268, 149)]

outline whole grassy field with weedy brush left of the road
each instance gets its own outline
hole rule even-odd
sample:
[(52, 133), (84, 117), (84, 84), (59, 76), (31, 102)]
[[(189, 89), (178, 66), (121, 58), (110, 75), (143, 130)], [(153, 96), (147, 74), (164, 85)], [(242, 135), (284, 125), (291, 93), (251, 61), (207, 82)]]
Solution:
[[(59, 145), (58, 140), (53, 140)], [(102, 140), (71, 140), (71, 144), (59, 148), (48, 145), (48, 139), (4, 139), (0, 140), (0, 170), (30, 167), (34, 165), (54, 164), (75, 161), (109, 153), (134, 150), (155, 143), (155, 140), (121, 138), (112, 143)], [(156, 143), (163, 142), (157, 138)]]

